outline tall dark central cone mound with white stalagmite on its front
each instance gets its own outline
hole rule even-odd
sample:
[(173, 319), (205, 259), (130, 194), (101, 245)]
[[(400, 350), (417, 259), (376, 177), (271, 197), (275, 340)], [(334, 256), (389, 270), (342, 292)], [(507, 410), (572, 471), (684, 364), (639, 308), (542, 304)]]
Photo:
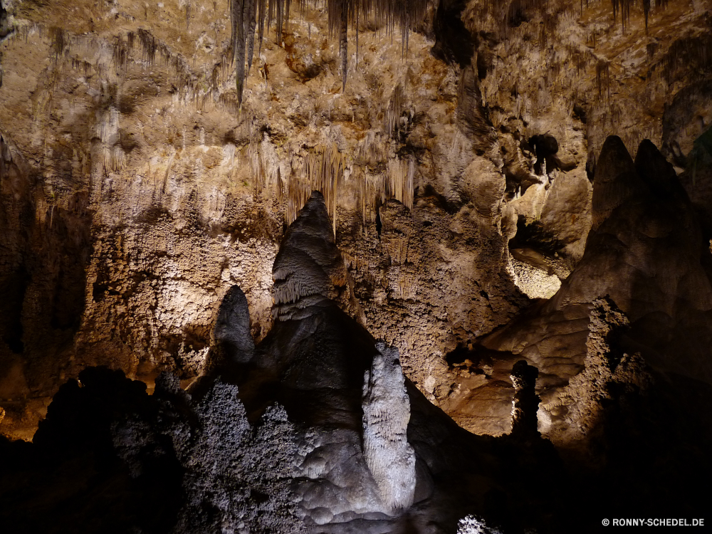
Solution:
[[(323, 208), (320, 197), (310, 199), (278, 253), (296, 279), (315, 280), (323, 271), (293, 247), (295, 231), (321, 225), (327, 231), (310, 234), (310, 255), (333, 249)], [(488, 439), (468, 434), (432, 406), (403, 377), (397, 350), (376, 344), (339, 300), (323, 297), (338, 295), (335, 283), (322, 276), (312, 293), (322, 295), (318, 301), (300, 306), (298, 318), (278, 316), (251, 360), (230, 372), (249, 419), (276, 401), (295, 426), (295, 492), (305, 524), (317, 533), (451, 532), (468, 513), (498, 515), (488, 492), (506, 487), (515, 496), (525, 485), (500, 478), (506, 475), (496, 466), (506, 454), (499, 458)], [(528, 461), (543, 465), (545, 458)], [(527, 497), (516, 506), (528, 510), (532, 502)], [(515, 523), (537, 521), (516, 517)]]

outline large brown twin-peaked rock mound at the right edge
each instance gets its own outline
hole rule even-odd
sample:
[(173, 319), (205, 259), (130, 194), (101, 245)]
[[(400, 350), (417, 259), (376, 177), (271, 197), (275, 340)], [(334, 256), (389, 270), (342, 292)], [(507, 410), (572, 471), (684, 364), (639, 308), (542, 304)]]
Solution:
[(560, 290), (483, 345), (536, 365), (543, 406), (558, 410), (558, 388), (585, 368), (591, 303), (609, 295), (631, 323), (626, 350), (643, 352), (659, 372), (709, 382), (709, 251), (671, 164), (649, 140), (634, 163), (613, 137), (599, 158), (593, 198), (600, 220)]

